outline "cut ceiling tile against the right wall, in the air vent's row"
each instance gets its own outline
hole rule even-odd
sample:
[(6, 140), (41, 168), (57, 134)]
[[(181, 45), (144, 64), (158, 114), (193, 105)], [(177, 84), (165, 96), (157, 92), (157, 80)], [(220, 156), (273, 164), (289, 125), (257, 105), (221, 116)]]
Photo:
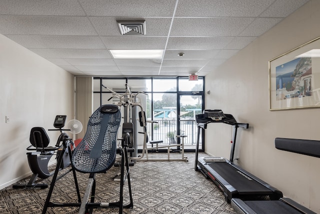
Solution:
[(257, 18), (239, 36), (258, 37), (279, 23), (282, 18)]

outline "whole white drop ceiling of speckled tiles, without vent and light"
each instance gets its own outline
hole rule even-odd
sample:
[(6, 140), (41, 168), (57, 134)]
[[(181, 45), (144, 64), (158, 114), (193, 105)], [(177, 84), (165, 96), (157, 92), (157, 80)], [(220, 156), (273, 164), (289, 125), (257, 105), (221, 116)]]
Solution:
[[(77, 76), (205, 76), (306, 2), (0, 0), (0, 34)], [(145, 35), (121, 35), (117, 21), (143, 20)], [(113, 59), (112, 49), (164, 54)]]

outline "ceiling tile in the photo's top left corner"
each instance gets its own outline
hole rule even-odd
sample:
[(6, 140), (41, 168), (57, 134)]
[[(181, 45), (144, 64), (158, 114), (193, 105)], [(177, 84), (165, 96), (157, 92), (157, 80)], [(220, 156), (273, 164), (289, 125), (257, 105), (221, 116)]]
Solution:
[(1, 15), (85, 16), (76, 0), (0, 0)]

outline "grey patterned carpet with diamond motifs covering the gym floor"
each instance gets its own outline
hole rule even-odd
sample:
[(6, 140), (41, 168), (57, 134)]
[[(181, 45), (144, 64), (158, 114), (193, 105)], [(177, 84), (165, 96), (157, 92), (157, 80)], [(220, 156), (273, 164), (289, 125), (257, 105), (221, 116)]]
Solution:
[[(152, 158), (165, 154), (149, 154)], [(170, 157), (180, 157), (172, 153)], [(199, 154), (203, 156), (204, 154)], [(214, 183), (200, 172), (194, 171), (194, 153), (186, 153), (186, 161), (137, 161), (130, 167), (133, 208), (123, 213), (149, 214), (222, 214), (235, 213), (226, 203), (223, 193)], [(164, 156), (165, 157), (165, 156)], [(64, 169), (66, 170), (66, 169)], [(60, 171), (62, 173), (64, 170)], [(106, 174), (96, 176), (96, 202), (118, 200), (119, 181), (112, 177), (119, 168), (112, 167)], [(85, 190), (88, 174), (77, 172), (81, 196)], [(28, 178), (20, 181), (26, 183)], [(41, 181), (41, 180), (40, 180)], [(50, 183), (51, 177), (41, 182)], [(13, 189), (12, 186), (0, 190), (0, 213), (41, 213), (47, 195), (46, 189)], [(124, 189), (128, 201), (127, 185)], [(72, 173), (56, 182), (51, 201), (77, 202)], [(47, 213), (77, 213), (78, 207), (49, 207)], [(97, 208), (93, 213), (118, 213), (117, 208)]]

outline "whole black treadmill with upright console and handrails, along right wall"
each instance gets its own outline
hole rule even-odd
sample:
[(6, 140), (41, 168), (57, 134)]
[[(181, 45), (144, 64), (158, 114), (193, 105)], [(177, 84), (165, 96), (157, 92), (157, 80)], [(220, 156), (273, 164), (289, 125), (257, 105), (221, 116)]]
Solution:
[[(212, 113), (219, 113), (221, 116), (212, 116)], [(270, 186), (239, 166), (233, 164), (233, 155), (237, 128), (249, 127), (248, 123), (237, 123), (231, 114), (224, 114), (221, 110), (204, 110), (203, 114), (195, 115), (198, 135), (195, 148), (194, 170), (210, 178), (224, 193), (228, 203), (232, 198), (241, 198), (244, 200), (278, 200), (282, 192)], [(230, 151), (230, 160), (217, 157), (216, 159), (208, 157), (198, 158), (198, 147), (200, 133), (204, 133), (208, 123), (225, 123), (233, 126), (232, 146)]]

